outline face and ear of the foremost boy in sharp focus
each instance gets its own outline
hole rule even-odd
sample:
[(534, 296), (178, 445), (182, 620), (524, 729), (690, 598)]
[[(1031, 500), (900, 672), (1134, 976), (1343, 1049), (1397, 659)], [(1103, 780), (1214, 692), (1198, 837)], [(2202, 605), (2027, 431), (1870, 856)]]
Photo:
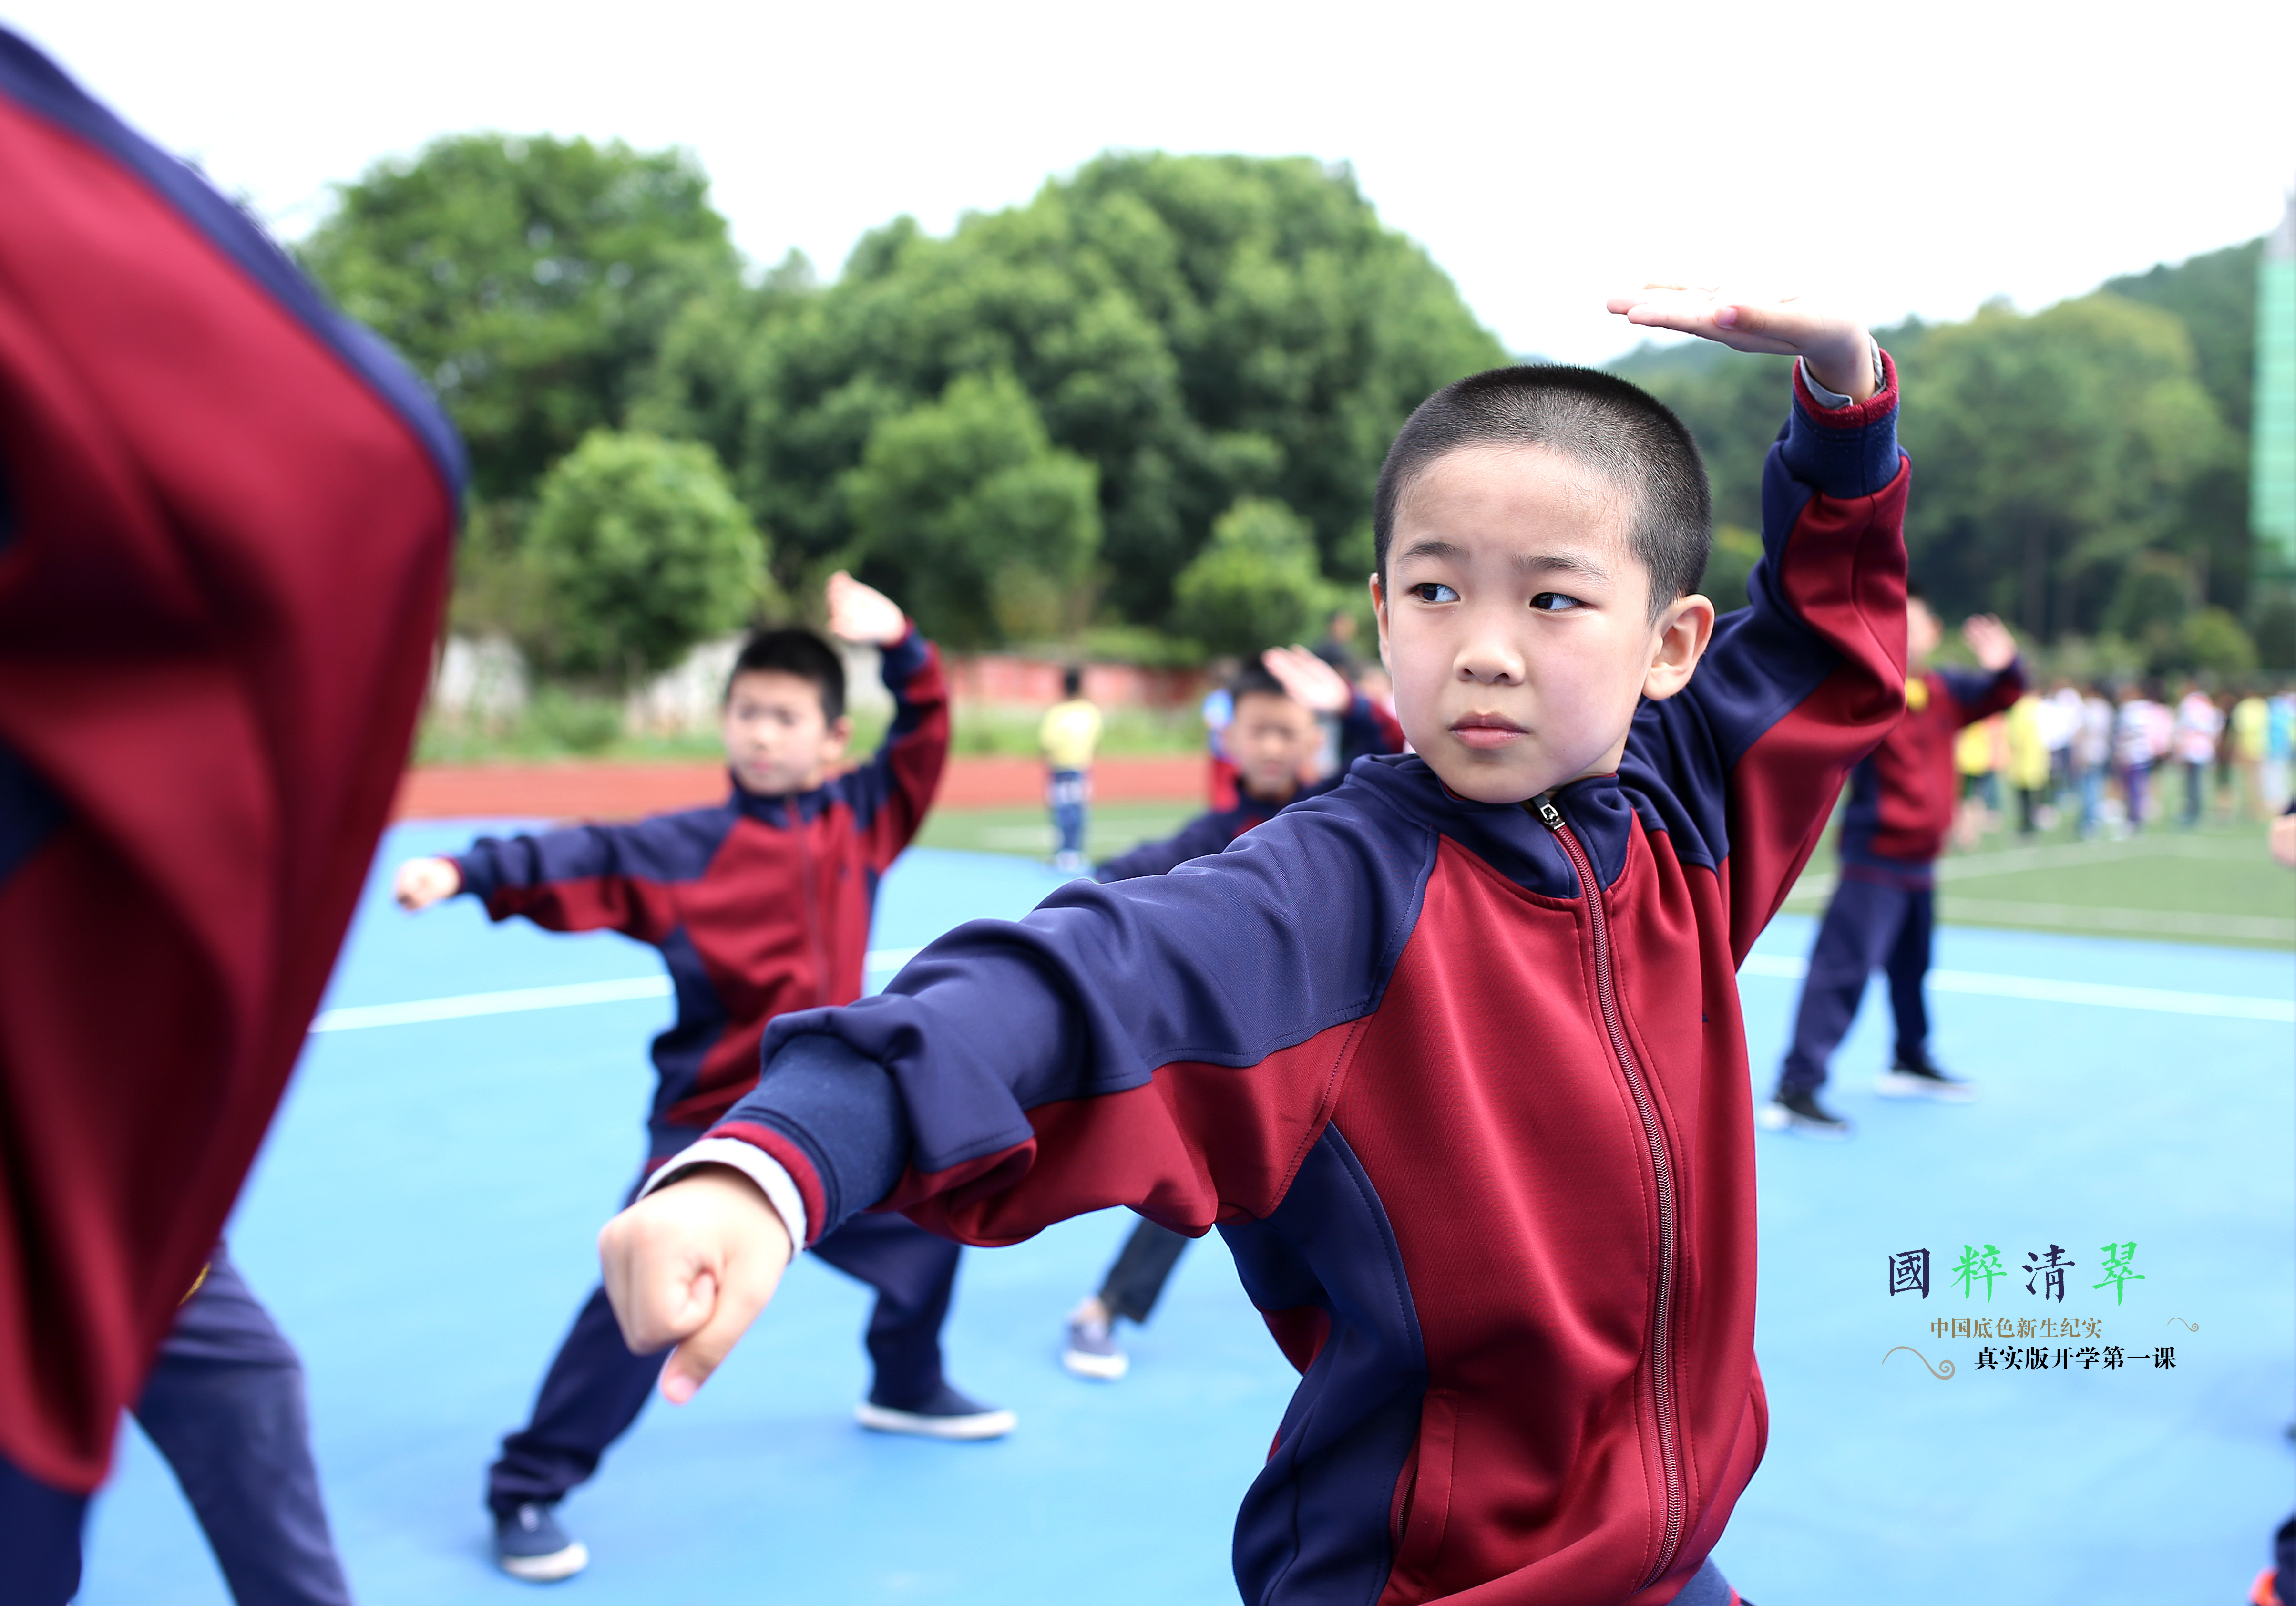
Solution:
[(1651, 620), (1632, 512), (1626, 489), (1538, 448), (1460, 448), (1405, 492), (1387, 584), (1371, 581), (1380, 655), (1403, 733), (1460, 797), (1609, 774), (1639, 698), (1690, 680), (1713, 604), (1676, 597)]

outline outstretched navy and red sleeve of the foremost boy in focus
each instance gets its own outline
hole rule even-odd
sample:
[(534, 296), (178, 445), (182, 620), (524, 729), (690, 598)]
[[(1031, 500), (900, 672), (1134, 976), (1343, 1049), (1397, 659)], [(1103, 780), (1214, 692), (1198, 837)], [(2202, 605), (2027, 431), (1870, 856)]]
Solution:
[[(778, 1158), (813, 1231), (870, 1204), (889, 1130), (884, 1204), (971, 1243), (1109, 1204), (1180, 1231), (1274, 1209), (1334, 1096), (1334, 1029), (1378, 1006), (1433, 862), (1430, 829), (1320, 800), (1169, 875), (1070, 882), (948, 933), (879, 997), (776, 1020), (714, 1133)], [(817, 1039), (847, 1050), (836, 1094)]]

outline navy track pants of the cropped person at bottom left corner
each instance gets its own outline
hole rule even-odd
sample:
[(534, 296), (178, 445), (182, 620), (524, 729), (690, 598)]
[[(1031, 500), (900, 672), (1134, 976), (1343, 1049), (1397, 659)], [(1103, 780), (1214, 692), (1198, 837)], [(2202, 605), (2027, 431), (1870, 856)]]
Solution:
[[(349, 1606), (310, 1459), (303, 1365), (223, 1245), (161, 1344), (135, 1420), (174, 1468), (239, 1606)], [(0, 1461), (0, 1599), (71, 1599), (85, 1510)]]

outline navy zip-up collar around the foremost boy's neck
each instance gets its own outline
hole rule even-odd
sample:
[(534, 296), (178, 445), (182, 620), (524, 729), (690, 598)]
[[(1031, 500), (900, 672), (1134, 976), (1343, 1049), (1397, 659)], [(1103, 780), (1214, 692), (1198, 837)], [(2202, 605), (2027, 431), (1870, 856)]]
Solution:
[[(1430, 825), (1506, 880), (1550, 898), (1580, 894), (1570, 855), (1529, 804), (1481, 804), (1460, 797), (1417, 754), (1357, 758), (1345, 790), (1364, 788), (1398, 813)], [(1616, 774), (1598, 774), (1554, 790), (1554, 806), (1570, 825), (1605, 887), (1626, 873), (1635, 809)]]

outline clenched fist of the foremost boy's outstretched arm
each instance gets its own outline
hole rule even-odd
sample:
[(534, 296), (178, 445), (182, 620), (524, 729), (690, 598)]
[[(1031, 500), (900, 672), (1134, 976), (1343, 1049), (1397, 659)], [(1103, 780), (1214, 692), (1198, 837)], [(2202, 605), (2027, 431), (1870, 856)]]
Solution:
[(597, 1259), (636, 1356), (675, 1344), (661, 1397), (693, 1399), (790, 1268), (790, 1229), (753, 1181), (703, 1165), (606, 1222)]

